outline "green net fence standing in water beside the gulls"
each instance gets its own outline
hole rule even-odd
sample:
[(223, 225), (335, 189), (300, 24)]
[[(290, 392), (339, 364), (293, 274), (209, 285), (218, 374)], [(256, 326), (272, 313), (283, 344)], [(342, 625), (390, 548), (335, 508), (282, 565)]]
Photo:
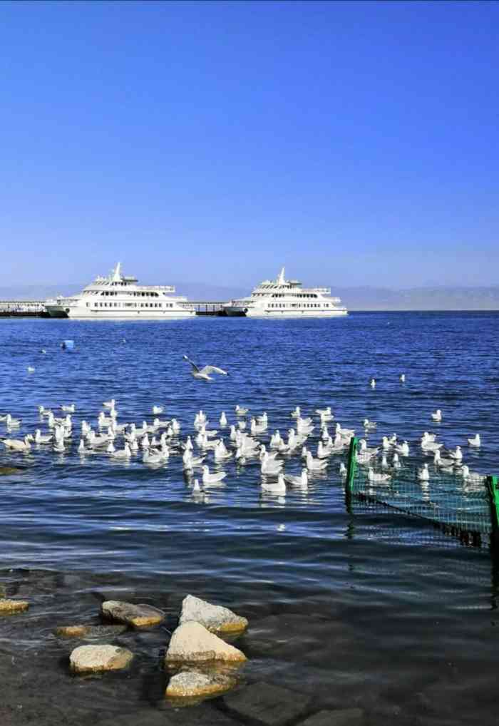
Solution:
[(356, 457), (356, 442), (352, 441), (347, 494), (430, 521), (461, 539), (476, 544), (488, 542), (497, 523), (497, 479), (487, 477), (485, 481), (469, 481), (460, 476), (458, 468), (444, 471), (430, 467), (429, 480), (421, 481), (418, 478), (420, 467), (406, 462), (403, 457), (400, 457), (400, 468), (382, 468), (379, 460), (361, 465)]

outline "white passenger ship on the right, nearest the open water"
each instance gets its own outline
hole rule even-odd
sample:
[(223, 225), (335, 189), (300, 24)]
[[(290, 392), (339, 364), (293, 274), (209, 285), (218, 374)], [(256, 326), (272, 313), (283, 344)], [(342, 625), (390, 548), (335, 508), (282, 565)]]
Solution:
[(249, 297), (223, 308), (228, 315), (247, 317), (337, 317), (348, 313), (340, 302), (331, 298), (330, 287), (302, 287), (298, 280), (286, 280), (283, 267), (277, 280), (263, 280)]

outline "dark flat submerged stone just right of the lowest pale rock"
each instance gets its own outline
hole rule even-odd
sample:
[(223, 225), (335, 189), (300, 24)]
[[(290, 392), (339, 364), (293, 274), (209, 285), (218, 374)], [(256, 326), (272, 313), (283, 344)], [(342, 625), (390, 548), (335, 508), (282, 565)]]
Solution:
[(223, 697), (230, 711), (265, 726), (294, 722), (307, 709), (310, 698), (289, 688), (253, 683)]

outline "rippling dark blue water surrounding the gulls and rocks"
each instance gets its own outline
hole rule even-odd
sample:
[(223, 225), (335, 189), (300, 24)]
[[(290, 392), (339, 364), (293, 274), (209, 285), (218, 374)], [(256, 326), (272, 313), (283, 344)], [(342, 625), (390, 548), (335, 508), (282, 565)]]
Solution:
[[(67, 654), (80, 643), (52, 632), (97, 622), (99, 600), (110, 596), (165, 608), (171, 629), (192, 592), (249, 618), (238, 641), (249, 656), (244, 682), (266, 680), (311, 697), (306, 713), (361, 706), (366, 724), (496, 723), (499, 574), (486, 549), (400, 515), (355, 504), (347, 511), (339, 458), (308, 492), (289, 489), (285, 499), (261, 494), (256, 464), (229, 462), (223, 485), (199, 502), (178, 455), (151, 469), (139, 457), (81, 460), (76, 447), (81, 420), (96, 425), (111, 398), (118, 423), (151, 422), (152, 405), (164, 404), (161, 417), (177, 417), (183, 439), (199, 408), (210, 428), (219, 428), (222, 410), (234, 423), (241, 404), (265, 410), (269, 431), (285, 432), (297, 404), (304, 415), (330, 405), (335, 420), (358, 433), (364, 417), (377, 421), (370, 442), (393, 431), (408, 439), (411, 460), (419, 460), (422, 431), (438, 427), (446, 445), (463, 446), (470, 468), (498, 473), (498, 333), (495, 313), (1, 320), (0, 412), (21, 417), (24, 435), (40, 425), (38, 404), (77, 407), (66, 454), (0, 449), (0, 466), (27, 468), (0, 477), (0, 584), (31, 602), (28, 614), (0, 620), (0, 676), (12, 680), (4, 720), (43, 722), (49, 714), (47, 723), (79, 725), (136, 714), (134, 722), (147, 725), (160, 712), (170, 723), (159, 666), (165, 629), (115, 639), (138, 654), (136, 664), (126, 677), (100, 680), (71, 678)], [(67, 338), (73, 353), (59, 348)], [(230, 375), (194, 380), (184, 353)], [(435, 408), (440, 425), (429, 420)], [(477, 432), (482, 447), (469, 450), (466, 438)], [(1, 423), (0, 435), (7, 435)], [(299, 473), (300, 457), (285, 467)], [(23, 664), (28, 690), (15, 680), (12, 658)], [(43, 708), (22, 701), (30, 693), (35, 703), (46, 699)], [(222, 719), (219, 701), (191, 710), (192, 722)]]

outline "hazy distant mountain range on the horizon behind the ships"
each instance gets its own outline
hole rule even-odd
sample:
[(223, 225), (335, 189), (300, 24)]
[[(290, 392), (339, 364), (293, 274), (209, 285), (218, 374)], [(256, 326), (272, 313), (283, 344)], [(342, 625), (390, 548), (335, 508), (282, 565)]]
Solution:
[[(247, 287), (220, 287), (203, 282), (173, 283), (193, 301), (226, 302), (249, 294)], [(78, 293), (84, 284), (0, 287), (0, 300), (45, 300)], [(499, 310), (499, 285), (490, 287), (332, 287), (349, 310)]]

